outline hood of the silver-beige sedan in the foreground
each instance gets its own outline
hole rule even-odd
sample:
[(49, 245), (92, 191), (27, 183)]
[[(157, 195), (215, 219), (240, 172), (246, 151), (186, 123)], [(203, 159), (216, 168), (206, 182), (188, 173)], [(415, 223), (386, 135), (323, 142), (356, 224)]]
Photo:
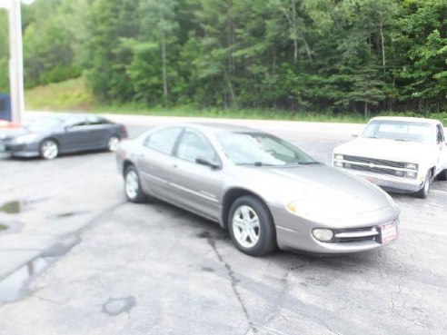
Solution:
[(298, 202), (343, 217), (394, 205), (392, 198), (371, 182), (324, 164), (246, 170), (250, 172), (244, 173), (245, 180), (251, 188), (275, 206)]

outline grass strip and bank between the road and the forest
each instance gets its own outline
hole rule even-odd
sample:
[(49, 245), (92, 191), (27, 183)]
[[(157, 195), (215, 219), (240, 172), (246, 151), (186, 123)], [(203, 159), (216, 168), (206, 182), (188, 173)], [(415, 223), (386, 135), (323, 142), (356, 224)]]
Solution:
[[(94, 95), (89, 92), (84, 77), (68, 80), (66, 82), (39, 86), (25, 92), (27, 110), (35, 111), (85, 111), (92, 113), (124, 113), (137, 115), (160, 116), (196, 116), (210, 118), (230, 119), (260, 119), (260, 120), (287, 120), (309, 121), (326, 123), (365, 123), (370, 117), (379, 115), (374, 113), (370, 117), (363, 114), (348, 113), (312, 113), (283, 110), (264, 109), (199, 109), (194, 106), (180, 106), (173, 108), (148, 108), (143, 103), (126, 103), (121, 105), (104, 105), (97, 103)], [(443, 113), (392, 113), (383, 112), (380, 115), (423, 116), (441, 120), (447, 124), (447, 112)]]

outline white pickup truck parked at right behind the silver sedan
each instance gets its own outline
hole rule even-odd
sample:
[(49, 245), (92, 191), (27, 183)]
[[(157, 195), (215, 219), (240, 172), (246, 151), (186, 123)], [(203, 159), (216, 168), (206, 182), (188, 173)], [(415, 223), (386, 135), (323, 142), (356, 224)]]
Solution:
[(355, 140), (333, 150), (333, 166), (391, 192), (427, 197), (435, 177), (447, 180), (447, 142), (438, 120), (375, 117)]

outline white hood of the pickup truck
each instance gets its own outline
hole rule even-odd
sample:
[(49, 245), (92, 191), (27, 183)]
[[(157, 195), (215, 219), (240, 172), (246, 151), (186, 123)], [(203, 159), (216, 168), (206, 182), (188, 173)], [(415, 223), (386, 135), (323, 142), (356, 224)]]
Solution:
[(431, 156), (432, 148), (432, 145), (424, 143), (359, 138), (339, 145), (333, 152), (388, 161), (416, 163)]

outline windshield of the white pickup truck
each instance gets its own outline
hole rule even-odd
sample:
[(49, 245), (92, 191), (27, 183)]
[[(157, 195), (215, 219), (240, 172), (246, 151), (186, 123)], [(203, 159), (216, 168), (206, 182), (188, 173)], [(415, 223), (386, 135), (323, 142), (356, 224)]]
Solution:
[(382, 138), (394, 141), (432, 143), (433, 131), (430, 123), (374, 120), (366, 125), (364, 138)]

